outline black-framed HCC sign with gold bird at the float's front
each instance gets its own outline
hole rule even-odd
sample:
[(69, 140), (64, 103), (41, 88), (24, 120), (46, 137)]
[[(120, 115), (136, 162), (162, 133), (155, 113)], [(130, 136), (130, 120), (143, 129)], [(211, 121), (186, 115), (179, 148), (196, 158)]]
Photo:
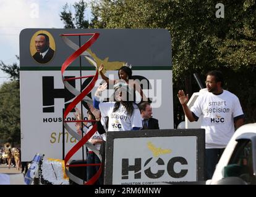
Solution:
[(105, 184), (203, 180), (204, 129), (108, 132)]

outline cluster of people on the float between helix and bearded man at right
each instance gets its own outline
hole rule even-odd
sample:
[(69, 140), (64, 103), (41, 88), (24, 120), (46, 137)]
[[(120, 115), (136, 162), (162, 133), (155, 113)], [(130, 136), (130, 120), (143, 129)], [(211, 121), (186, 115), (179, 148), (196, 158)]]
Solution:
[[(109, 87), (111, 81), (102, 73), (104, 66), (100, 66), (100, 74), (105, 83), (101, 84), (95, 92), (93, 98), (93, 106), (88, 105), (90, 110), (87, 112), (88, 120), (95, 120), (98, 126), (98, 131), (91, 137), (91, 142), (100, 150), (103, 161), (100, 161), (98, 156), (88, 148), (87, 164), (104, 164), (105, 160), (105, 142), (106, 132), (109, 131), (139, 131), (142, 129), (159, 129), (158, 120), (152, 118), (152, 108), (147, 102), (147, 97), (142, 92), (139, 84), (132, 80), (132, 70), (128, 66), (122, 66), (118, 73), (119, 79), (113, 81), (113, 101), (100, 102), (101, 92)], [(142, 97), (142, 102), (135, 103), (134, 92), (138, 91)], [(75, 118), (82, 119), (80, 111), (76, 108)], [(92, 122), (92, 125), (95, 122)], [(90, 131), (91, 127), (83, 127), (81, 123), (76, 124), (76, 129), (79, 134), (82, 134), (83, 128)], [(87, 124), (85, 125), (87, 126)], [(87, 166), (87, 181), (98, 171), (100, 166)], [(104, 167), (103, 167), (104, 169)], [(103, 184), (103, 173), (96, 184)]]

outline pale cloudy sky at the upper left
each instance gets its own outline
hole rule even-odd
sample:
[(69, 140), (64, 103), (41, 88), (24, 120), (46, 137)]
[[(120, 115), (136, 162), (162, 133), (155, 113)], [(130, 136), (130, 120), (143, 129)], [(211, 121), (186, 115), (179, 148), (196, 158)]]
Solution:
[[(23, 29), (64, 28), (59, 14), (66, 2), (73, 5), (79, 0), (0, 0), (0, 60), (7, 65), (17, 62), (15, 55), (19, 55), (19, 34)], [(91, 19), (90, 8), (85, 18)], [(7, 81), (8, 75), (0, 70), (0, 86)]]

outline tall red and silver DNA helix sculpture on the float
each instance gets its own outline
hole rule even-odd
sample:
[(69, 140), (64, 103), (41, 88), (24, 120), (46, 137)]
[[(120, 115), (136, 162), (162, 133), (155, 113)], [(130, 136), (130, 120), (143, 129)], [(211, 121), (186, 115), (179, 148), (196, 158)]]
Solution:
[[(66, 172), (67, 176), (69, 177), (69, 179), (71, 179), (72, 181), (74, 181), (75, 183), (77, 183), (79, 185), (83, 185), (83, 184), (85, 184), (85, 185), (92, 185), (93, 183), (96, 182), (96, 180), (98, 180), (98, 178), (101, 175), (102, 164), (68, 164), (68, 162), (69, 162), (69, 159), (81, 147), (83, 147), (83, 145), (85, 145), (88, 148), (92, 149), (92, 151), (98, 156), (100, 161), (102, 161), (100, 152), (93, 146), (92, 143), (88, 142), (88, 140), (92, 137), (92, 135), (95, 134), (95, 132), (97, 131), (97, 125), (94, 124), (92, 129), (89, 132), (87, 132), (87, 134), (85, 136), (81, 137), (79, 134), (77, 134), (76, 131), (71, 129), (71, 127), (67, 123), (70, 123), (70, 122), (92, 122), (92, 121), (85, 121), (85, 120), (66, 121), (66, 118), (67, 118), (67, 115), (70, 113), (70, 111), (72, 111), (72, 109), (75, 108), (75, 106), (79, 102), (82, 102), (82, 100), (84, 102), (87, 102), (87, 103), (92, 105), (92, 99), (87, 97), (87, 95), (91, 92), (91, 90), (95, 86), (95, 82), (98, 79), (98, 69), (97, 69), (97, 65), (96, 65), (95, 60), (93, 59), (93, 57), (90, 54), (88, 54), (88, 52), (86, 50), (90, 46), (92, 46), (92, 44), (96, 41), (96, 39), (98, 39), (100, 34), (99, 33), (80, 33), (80, 34), (61, 34), (60, 36), (62, 36), (62, 39), (64, 40), (64, 42), (69, 47), (71, 47), (72, 49), (75, 50), (75, 52), (66, 59), (66, 61), (62, 64), (62, 67), (61, 67), (62, 82), (64, 83), (64, 86), (72, 94), (74, 94), (76, 96), (75, 99), (71, 103), (69, 103), (69, 105), (67, 106), (66, 110), (64, 111), (63, 124), (64, 124), (64, 127), (67, 130), (67, 132), (69, 132), (69, 134), (72, 135), (72, 137), (74, 137), (75, 139), (77, 139), (79, 141), (79, 142), (77, 142), (74, 145), (74, 147), (72, 147), (69, 150), (69, 152), (67, 153), (67, 155), (64, 158), (65, 172)], [(87, 42), (85, 42), (85, 44), (83, 44), (81, 47), (79, 47), (77, 44), (75, 44), (74, 42), (70, 41), (70, 39), (68, 39), (67, 36), (91, 36), (91, 38)], [(78, 78), (67, 78), (66, 79), (64, 77), (64, 72), (65, 72), (66, 68), (70, 65), (70, 63), (74, 62), (74, 60), (77, 57), (79, 57), (80, 55), (84, 55), (85, 58), (87, 58), (87, 60), (90, 61), (90, 63), (92, 63), (95, 66), (95, 69), (96, 69), (95, 75), (81, 76), (81, 77), (78, 77)], [(92, 81), (90, 81), (90, 83), (87, 85), (87, 87), (85, 87), (85, 89), (82, 90), (82, 92), (80, 92), (79, 90), (75, 89), (68, 82), (70, 80), (81, 79), (81, 78), (89, 78), (89, 77), (92, 77), (92, 76), (93, 76)], [(100, 165), (100, 169), (87, 182), (85, 182), (83, 179), (80, 179), (79, 177), (75, 176), (74, 174), (69, 172), (69, 170), (67, 169), (67, 167), (95, 166), (95, 165)]]

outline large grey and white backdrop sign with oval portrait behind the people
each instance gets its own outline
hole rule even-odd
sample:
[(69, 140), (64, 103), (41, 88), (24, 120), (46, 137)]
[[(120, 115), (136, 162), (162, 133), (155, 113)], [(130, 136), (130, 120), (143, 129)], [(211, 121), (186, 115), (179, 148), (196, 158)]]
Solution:
[[(22, 161), (31, 161), (36, 153), (45, 154), (45, 158), (62, 159), (62, 109), (75, 99), (75, 95), (64, 88), (61, 66), (90, 36), (70, 36), (70, 41), (74, 42), (70, 47), (60, 35), (81, 33), (100, 35), (86, 52), (98, 68), (101, 63), (105, 65), (106, 76), (110, 79), (118, 79), (117, 70), (125, 63), (132, 65), (132, 76), (143, 81), (143, 92), (153, 101), (153, 117), (159, 120), (160, 129), (173, 129), (171, 36), (167, 30), (25, 29), (20, 33)], [(64, 72), (66, 78), (96, 73), (84, 55), (68, 66)], [(82, 79), (82, 89), (90, 80)], [(93, 97), (100, 82), (99, 75), (88, 97)], [(77, 90), (81, 88), (80, 79), (69, 81), (69, 84)], [(136, 94), (139, 98), (140, 95)], [(81, 104), (77, 107), (81, 108)], [(82, 107), (82, 111), (86, 119), (86, 108)], [(74, 114), (69, 113), (66, 120), (75, 120)], [(75, 123), (68, 124), (75, 130)], [(64, 136), (66, 155), (77, 140), (67, 131)], [(82, 151), (79, 150), (71, 159), (82, 159)]]

